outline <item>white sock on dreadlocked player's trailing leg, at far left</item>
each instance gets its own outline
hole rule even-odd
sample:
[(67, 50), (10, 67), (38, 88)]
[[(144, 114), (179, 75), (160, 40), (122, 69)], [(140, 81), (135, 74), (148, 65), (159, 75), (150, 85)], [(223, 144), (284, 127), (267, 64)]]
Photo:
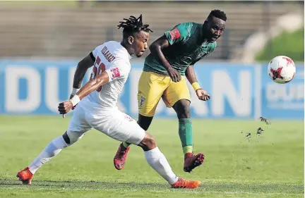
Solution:
[(52, 159), (52, 157), (56, 156), (56, 154), (59, 154), (59, 152), (66, 148), (68, 145), (64, 141), (64, 138), (62, 136), (56, 137), (54, 140), (49, 142), (47, 147), (44, 148), (44, 150), (41, 152), (37, 158), (32, 161), (30, 164), (30, 172), (32, 174), (35, 174), (38, 168), (40, 168), (44, 163), (47, 163)]

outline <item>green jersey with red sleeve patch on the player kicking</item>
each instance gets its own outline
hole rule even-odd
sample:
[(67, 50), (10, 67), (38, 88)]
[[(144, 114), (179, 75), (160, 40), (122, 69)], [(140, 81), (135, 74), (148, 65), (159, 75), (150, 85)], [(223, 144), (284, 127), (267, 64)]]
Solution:
[[(208, 56), (217, 46), (216, 42), (202, 44), (202, 28), (203, 25), (199, 23), (180, 23), (165, 32), (169, 47), (162, 49), (162, 52), (169, 64), (181, 75), (185, 75), (186, 68)], [(143, 70), (167, 74), (160, 59), (151, 53), (145, 58)]]

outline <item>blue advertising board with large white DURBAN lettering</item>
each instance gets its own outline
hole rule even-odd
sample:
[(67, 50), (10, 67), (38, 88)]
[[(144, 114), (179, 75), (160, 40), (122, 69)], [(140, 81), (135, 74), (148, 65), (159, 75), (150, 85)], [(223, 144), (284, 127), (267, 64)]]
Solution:
[[(0, 114), (56, 115), (60, 101), (71, 94), (77, 61), (0, 61)], [(138, 115), (138, 79), (142, 62), (132, 62), (132, 70), (119, 99), (119, 109)], [(293, 118), (304, 119), (304, 64), (286, 85), (276, 84), (267, 74), (267, 65), (199, 62), (198, 81), (211, 96), (197, 99), (191, 85), (193, 118)], [(84, 82), (88, 81), (90, 69)], [(173, 109), (160, 101), (158, 117), (176, 117)]]

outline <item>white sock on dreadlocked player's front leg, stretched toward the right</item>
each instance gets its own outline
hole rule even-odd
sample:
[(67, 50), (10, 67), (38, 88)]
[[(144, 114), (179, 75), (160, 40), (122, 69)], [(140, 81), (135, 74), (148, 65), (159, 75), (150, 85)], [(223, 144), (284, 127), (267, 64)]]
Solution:
[(155, 149), (151, 149), (150, 151), (145, 151), (144, 154), (149, 165), (155, 169), (162, 178), (165, 178), (170, 185), (177, 182), (177, 175), (172, 171), (167, 159), (158, 147), (155, 147)]

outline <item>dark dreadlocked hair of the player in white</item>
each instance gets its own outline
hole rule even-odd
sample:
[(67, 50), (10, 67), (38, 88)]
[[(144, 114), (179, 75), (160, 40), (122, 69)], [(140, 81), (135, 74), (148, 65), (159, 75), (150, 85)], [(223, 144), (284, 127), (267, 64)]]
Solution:
[[(143, 25), (142, 22), (142, 15), (140, 15), (138, 18), (134, 16), (130, 16), (128, 19), (124, 18), (125, 21), (120, 21), (119, 25), (117, 27), (123, 28), (123, 33), (127, 33), (128, 35), (132, 35), (135, 32), (152, 32), (150, 28), (148, 28), (148, 24)], [(118, 28), (118, 29), (119, 29)]]

